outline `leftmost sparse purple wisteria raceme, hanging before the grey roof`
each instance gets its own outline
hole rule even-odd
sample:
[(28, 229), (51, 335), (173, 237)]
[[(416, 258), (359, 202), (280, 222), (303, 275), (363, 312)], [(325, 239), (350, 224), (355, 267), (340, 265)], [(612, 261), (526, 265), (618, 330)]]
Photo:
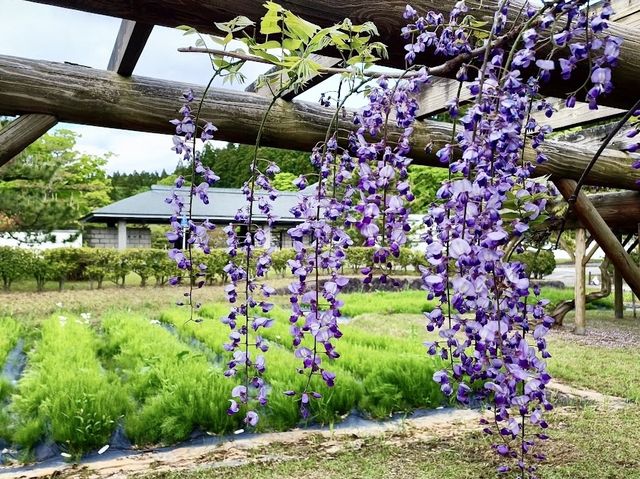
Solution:
[[(193, 286), (201, 288), (204, 285), (206, 266), (199, 264), (194, 267), (192, 251), (193, 247), (197, 247), (208, 254), (210, 250), (209, 231), (214, 229), (214, 225), (208, 219), (200, 222), (193, 220), (193, 200), (197, 197), (199, 201), (208, 204), (208, 189), (220, 178), (213, 170), (202, 164), (200, 152), (196, 150), (198, 126), (196, 124), (197, 115), (192, 108), (193, 92), (185, 92), (183, 100), (184, 104), (180, 108), (182, 118), (171, 120), (171, 123), (176, 127), (172, 149), (180, 155), (184, 164), (191, 165), (191, 175), (188, 179), (179, 176), (176, 179), (174, 191), (170, 197), (166, 198), (166, 202), (172, 206), (174, 211), (170, 219), (171, 231), (167, 233), (167, 240), (172, 246), (169, 250), (169, 257), (176, 262), (179, 271), (181, 271), (181, 274), (170, 278), (169, 283), (177, 285), (185, 279), (188, 281), (189, 290), (184, 293), (187, 302), (179, 301), (177, 304), (187, 304), (190, 309), (190, 319), (193, 320), (194, 313), (200, 308), (200, 303), (195, 302), (193, 298)], [(199, 139), (203, 144), (206, 144), (213, 139), (215, 131), (216, 127), (213, 124), (205, 123), (200, 127)], [(188, 185), (186, 192), (185, 184)]]

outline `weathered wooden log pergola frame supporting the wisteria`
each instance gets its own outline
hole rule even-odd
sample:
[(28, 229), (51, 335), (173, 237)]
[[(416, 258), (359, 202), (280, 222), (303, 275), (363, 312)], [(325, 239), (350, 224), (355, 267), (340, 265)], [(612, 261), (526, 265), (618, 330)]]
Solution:
[[(158, 24), (175, 27), (189, 24), (205, 33), (213, 33), (213, 20), (226, 21), (236, 15), (245, 15), (257, 20), (262, 14), (261, 2), (252, 0), (33, 1), (116, 16), (124, 20), (109, 64), (111, 71), (0, 57), (0, 114), (23, 115), (17, 125), (0, 132), (0, 165), (37, 138), (46, 125), (56, 120), (139, 131), (169, 132), (167, 119), (175, 115), (176, 98), (184, 89), (193, 86), (148, 78), (131, 77), (125, 80), (122, 77), (133, 72), (152, 26)], [(512, 5), (517, 7), (519, 1), (522, 0), (516, 0), (516, 4)], [(354, 22), (373, 21), (380, 30), (380, 40), (389, 45), (390, 58), (386, 63), (390, 66), (403, 66), (403, 42), (399, 41), (398, 32), (403, 21), (405, 0), (390, 0), (378, 4), (365, 0), (348, 3), (338, 0), (281, 0), (280, 3), (322, 26), (336, 23), (346, 17)], [(435, 9), (446, 13), (454, 3), (455, 0), (444, 0), (436, 6), (430, 0), (417, 0), (414, 6), (419, 10)], [(476, 18), (492, 18), (497, 2), (468, 2), (468, 6)], [(611, 24), (609, 31), (621, 37), (623, 43), (619, 66), (614, 72), (616, 89), (602, 99), (602, 104), (613, 108), (629, 108), (635, 101), (630, 92), (637, 91), (637, 78), (640, 77), (640, 55), (637, 54), (640, 51), (640, 36), (635, 29), (615, 23)], [(432, 61), (435, 62), (437, 59)], [(316, 80), (319, 78), (311, 83), (315, 83)], [(449, 87), (451, 86), (450, 80), (439, 82), (441, 85), (447, 85), (449, 82)], [(572, 82), (553, 77), (545, 85), (544, 93), (562, 98), (565, 92), (573, 88), (575, 85)], [(202, 90), (196, 88), (196, 91)], [(218, 90), (206, 102), (203, 116), (216, 119), (220, 128), (219, 139), (253, 143), (259, 120), (269, 101), (263, 95), (264, 92)], [(294, 96), (293, 92), (289, 92), (286, 98), (292, 99)], [(436, 100), (431, 101), (434, 105), (437, 103)], [(619, 113), (618, 110), (606, 110), (604, 115), (610, 117)], [(304, 102), (279, 101), (272, 114), (274, 120), (269, 122), (263, 138), (265, 145), (277, 147), (309, 149), (321, 139), (318, 131), (323, 130), (329, 122), (329, 114), (326, 111), (317, 105)], [(345, 116), (340, 125), (343, 129), (350, 126), (349, 115)], [(590, 118), (587, 117), (585, 120), (589, 121)], [(563, 126), (573, 126), (575, 123), (571, 122), (576, 119), (571, 119), (569, 123), (567, 121)], [(242, 128), (234, 128), (238, 125)], [(419, 123), (414, 135), (417, 162), (440, 166), (433, 154), (425, 153), (424, 147), (432, 145), (433, 150), (437, 150), (449, 140), (450, 134), (451, 125), (446, 123)], [(11, 145), (11, 148), (6, 145)], [(575, 144), (548, 142), (545, 145), (545, 153), (549, 162), (540, 166), (537, 172), (551, 174), (563, 195), (571, 196), (572, 188), (575, 187), (573, 179), (580, 176), (592, 152)], [(531, 149), (525, 151), (525, 159), (533, 161), (534, 153)], [(588, 176), (587, 184), (637, 190), (631, 161), (627, 154), (611, 149), (605, 150)], [(640, 294), (640, 270), (629, 263), (624, 247), (596, 207), (586, 196), (581, 195), (574, 211), (576, 221), (589, 229), (627, 283), (636, 294)]]

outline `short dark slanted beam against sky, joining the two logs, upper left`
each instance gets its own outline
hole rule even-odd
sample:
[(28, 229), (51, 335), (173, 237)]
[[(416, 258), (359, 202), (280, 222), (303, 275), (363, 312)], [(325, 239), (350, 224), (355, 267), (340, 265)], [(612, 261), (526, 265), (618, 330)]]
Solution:
[(107, 70), (131, 76), (152, 30), (153, 25), (148, 23), (122, 20)]

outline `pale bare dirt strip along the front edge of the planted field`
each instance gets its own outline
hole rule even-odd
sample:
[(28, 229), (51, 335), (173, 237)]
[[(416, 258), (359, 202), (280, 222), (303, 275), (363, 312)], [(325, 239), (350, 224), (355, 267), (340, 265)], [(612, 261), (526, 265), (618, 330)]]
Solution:
[[(576, 389), (553, 383), (550, 390), (570, 399), (588, 401), (608, 408), (624, 407), (625, 401), (595, 391)], [(478, 430), (481, 412), (467, 409), (440, 409), (421, 417), (375, 422), (350, 418), (333, 430), (295, 429), (288, 432), (237, 436), (221, 442), (204, 438), (202, 444), (190, 444), (139, 453), (108, 452), (89, 458), (80, 464), (62, 460), (49, 461), (33, 467), (0, 469), (0, 479), (64, 477), (67, 479), (125, 479), (162, 471), (180, 471), (195, 467), (223, 468), (247, 463), (292, 460), (285, 453), (260, 454), (265, 446), (279, 444), (300, 446), (322, 442), (326, 454), (336, 454), (347, 448), (359, 448), (364, 439), (388, 436), (389, 440), (412, 441), (450, 437)], [(256, 453), (258, 451), (258, 453)]]

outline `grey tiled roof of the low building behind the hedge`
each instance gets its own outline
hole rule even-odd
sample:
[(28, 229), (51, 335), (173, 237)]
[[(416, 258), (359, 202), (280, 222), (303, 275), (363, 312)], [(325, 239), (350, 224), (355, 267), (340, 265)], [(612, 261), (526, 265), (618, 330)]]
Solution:
[[(299, 196), (310, 194), (314, 191), (310, 186), (302, 192), (283, 191), (274, 201), (273, 211), (278, 217), (279, 223), (293, 223), (299, 220), (291, 214), (291, 208), (297, 204)], [(173, 214), (171, 205), (165, 199), (171, 196), (175, 188), (171, 186), (155, 185), (151, 190), (116, 201), (102, 208), (98, 208), (87, 215), (84, 220), (94, 223), (126, 220), (129, 222), (158, 223), (165, 222)], [(181, 196), (188, 197), (188, 188), (179, 190)], [(244, 194), (235, 188), (210, 188), (209, 204), (203, 204), (199, 199), (193, 202), (193, 219), (202, 220), (209, 218), (214, 223), (227, 223), (232, 221), (238, 209), (246, 204)], [(264, 221), (257, 205), (254, 205), (254, 218), (256, 221)]]

